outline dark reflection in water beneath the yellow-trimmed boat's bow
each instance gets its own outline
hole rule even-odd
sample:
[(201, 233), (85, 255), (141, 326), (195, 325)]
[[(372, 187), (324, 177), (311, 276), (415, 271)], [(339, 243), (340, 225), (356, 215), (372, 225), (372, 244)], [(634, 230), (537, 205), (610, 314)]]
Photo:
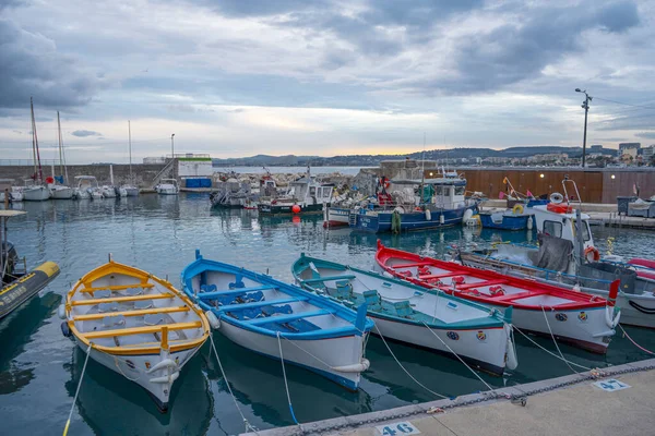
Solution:
[[(86, 353), (73, 348), (71, 379), (66, 389), (73, 401), (80, 383)], [(97, 435), (204, 435), (210, 429), (213, 399), (203, 373), (203, 359), (195, 356), (186, 365), (172, 387), (171, 402), (167, 413), (159, 413), (144, 389), (120, 374), (107, 371), (91, 360), (86, 365), (84, 380), (78, 397), (78, 410), (84, 422)], [(71, 434), (75, 422), (71, 424)]]

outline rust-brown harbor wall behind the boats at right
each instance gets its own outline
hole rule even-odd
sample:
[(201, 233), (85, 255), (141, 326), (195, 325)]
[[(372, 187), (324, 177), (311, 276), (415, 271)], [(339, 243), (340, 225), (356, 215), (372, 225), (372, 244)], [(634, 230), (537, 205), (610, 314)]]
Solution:
[[(426, 171), (427, 172), (427, 171)], [(631, 196), (635, 186), (640, 196), (648, 198), (655, 195), (655, 171), (653, 168), (457, 168), (467, 180), (468, 191), (478, 191), (498, 198), (505, 191), (503, 179), (507, 177), (514, 189), (521, 193), (531, 191), (534, 195), (562, 192), (564, 177), (575, 181), (580, 196), (585, 203), (616, 204), (617, 196)], [(427, 175), (427, 174), (426, 174)], [(572, 185), (567, 186), (569, 195)]]

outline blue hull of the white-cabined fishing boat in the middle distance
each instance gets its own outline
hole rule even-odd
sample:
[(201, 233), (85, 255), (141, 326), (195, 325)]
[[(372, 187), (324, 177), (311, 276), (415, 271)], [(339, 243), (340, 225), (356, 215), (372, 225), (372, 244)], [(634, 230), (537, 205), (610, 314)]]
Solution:
[[(431, 211), (431, 216), (427, 217), (425, 211), (413, 211), (401, 214), (401, 231), (416, 231), (439, 229), (450, 226), (458, 226), (464, 219), (466, 210), (476, 211), (477, 206), (466, 206), (458, 209), (450, 209), (443, 211)], [(377, 213), (371, 215), (354, 215), (355, 218), (349, 226), (354, 230), (383, 233), (392, 231), (392, 213)], [(441, 219), (443, 217), (443, 220)]]

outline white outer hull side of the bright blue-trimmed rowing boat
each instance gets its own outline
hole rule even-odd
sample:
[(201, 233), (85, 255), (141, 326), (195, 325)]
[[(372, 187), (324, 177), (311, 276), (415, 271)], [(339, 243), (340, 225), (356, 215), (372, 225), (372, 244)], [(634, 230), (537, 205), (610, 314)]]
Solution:
[[(226, 338), (246, 349), (279, 360), (278, 339), (275, 337), (243, 330), (230, 324), (229, 320), (226, 320), (225, 316), (221, 317), (221, 327), (218, 330)], [(296, 343), (296, 346), (291, 342)], [(333, 367), (359, 364), (362, 360), (366, 335), (352, 335), (318, 340), (287, 340), (281, 338), (279, 343), (282, 344), (285, 363), (293, 363), (318, 373), (349, 390), (358, 389), (361, 377), (360, 373), (338, 372), (334, 371)], [(309, 353), (320, 360), (314, 359)], [(329, 364), (330, 367), (323, 364), (323, 362)]]

